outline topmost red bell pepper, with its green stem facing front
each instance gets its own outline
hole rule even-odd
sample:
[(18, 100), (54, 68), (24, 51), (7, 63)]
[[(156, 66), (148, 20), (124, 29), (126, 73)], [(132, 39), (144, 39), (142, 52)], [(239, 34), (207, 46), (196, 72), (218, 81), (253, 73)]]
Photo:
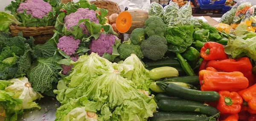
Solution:
[(228, 55), (224, 52), (224, 46), (216, 42), (205, 43), (201, 48), (200, 55), (205, 60), (228, 59)]

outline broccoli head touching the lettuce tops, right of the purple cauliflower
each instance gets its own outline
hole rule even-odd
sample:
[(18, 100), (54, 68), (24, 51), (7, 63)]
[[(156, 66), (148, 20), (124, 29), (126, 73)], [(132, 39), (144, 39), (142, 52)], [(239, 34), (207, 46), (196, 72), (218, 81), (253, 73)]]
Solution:
[(131, 54), (136, 54), (137, 57), (140, 59), (144, 58), (141, 52), (140, 46), (132, 44), (130, 40), (123, 42), (119, 46), (118, 53), (119, 53), (120, 60), (125, 60), (126, 58), (131, 56)]

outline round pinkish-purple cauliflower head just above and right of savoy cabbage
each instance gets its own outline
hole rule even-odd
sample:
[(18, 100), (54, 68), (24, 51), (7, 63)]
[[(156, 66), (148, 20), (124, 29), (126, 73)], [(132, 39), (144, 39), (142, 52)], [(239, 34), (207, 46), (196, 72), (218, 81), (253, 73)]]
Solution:
[(63, 36), (59, 39), (57, 47), (66, 55), (73, 55), (79, 48), (80, 40), (75, 40), (73, 36)]

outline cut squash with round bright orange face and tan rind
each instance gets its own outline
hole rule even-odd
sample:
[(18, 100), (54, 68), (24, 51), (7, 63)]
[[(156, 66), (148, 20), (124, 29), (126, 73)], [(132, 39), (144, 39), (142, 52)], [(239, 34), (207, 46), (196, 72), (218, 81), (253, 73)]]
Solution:
[(144, 26), (148, 12), (143, 10), (128, 10), (121, 12), (116, 18), (116, 29), (120, 33), (131, 34), (136, 28)]

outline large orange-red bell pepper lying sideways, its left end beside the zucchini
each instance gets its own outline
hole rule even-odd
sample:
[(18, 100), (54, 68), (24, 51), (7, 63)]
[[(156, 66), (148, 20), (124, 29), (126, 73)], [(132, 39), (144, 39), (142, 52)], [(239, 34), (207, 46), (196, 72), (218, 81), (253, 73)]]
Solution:
[(217, 72), (212, 67), (199, 72), (202, 91), (230, 91), (237, 92), (246, 89), (248, 79), (241, 72)]

